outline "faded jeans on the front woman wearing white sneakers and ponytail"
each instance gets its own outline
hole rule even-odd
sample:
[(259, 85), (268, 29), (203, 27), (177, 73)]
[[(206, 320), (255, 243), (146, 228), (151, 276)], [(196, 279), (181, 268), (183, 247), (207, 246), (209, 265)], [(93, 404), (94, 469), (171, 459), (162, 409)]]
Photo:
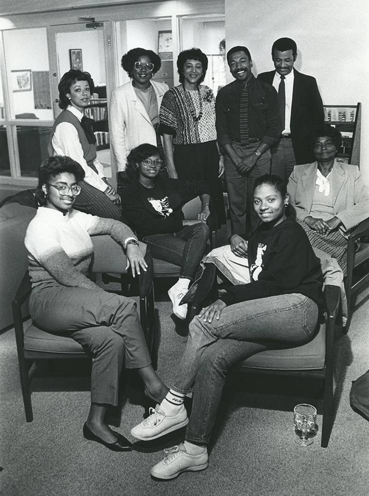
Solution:
[(226, 372), (238, 362), (268, 349), (309, 342), (318, 322), (318, 306), (299, 293), (270, 296), (225, 307), (210, 324), (198, 316), (171, 388), (193, 388), (185, 439), (206, 444), (213, 428)]

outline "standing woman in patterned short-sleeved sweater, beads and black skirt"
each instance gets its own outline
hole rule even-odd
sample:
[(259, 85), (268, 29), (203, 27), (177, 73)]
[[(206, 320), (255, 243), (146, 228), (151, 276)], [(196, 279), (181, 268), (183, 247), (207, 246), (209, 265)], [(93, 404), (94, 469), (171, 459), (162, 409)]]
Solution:
[(164, 95), (159, 115), (168, 174), (206, 181), (220, 227), (225, 223), (219, 180), (224, 164), (216, 143), (214, 95), (208, 86), (201, 85), (207, 57), (198, 48), (184, 50), (177, 67), (181, 84)]

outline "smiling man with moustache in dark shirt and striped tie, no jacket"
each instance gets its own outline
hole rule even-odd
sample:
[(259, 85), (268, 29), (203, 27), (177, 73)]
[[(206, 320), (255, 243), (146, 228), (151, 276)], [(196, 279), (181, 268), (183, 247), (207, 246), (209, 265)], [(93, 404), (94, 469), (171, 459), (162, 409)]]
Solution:
[(216, 132), (224, 152), (231, 233), (242, 235), (259, 224), (252, 207), (253, 185), (257, 177), (270, 173), (270, 147), (281, 134), (281, 124), (277, 92), (255, 79), (249, 50), (234, 46), (227, 62), (235, 80), (217, 94)]

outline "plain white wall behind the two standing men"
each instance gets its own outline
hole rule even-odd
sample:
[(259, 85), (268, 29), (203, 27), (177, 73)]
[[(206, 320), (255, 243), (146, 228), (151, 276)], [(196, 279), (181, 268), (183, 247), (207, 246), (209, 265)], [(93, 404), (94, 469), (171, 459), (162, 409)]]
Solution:
[[(225, 0), (226, 49), (245, 45), (254, 74), (272, 70), (271, 47), (297, 43), (297, 70), (313, 75), (325, 105), (363, 103), (361, 170), (369, 184), (368, 0)], [(228, 75), (228, 81), (232, 77)]]

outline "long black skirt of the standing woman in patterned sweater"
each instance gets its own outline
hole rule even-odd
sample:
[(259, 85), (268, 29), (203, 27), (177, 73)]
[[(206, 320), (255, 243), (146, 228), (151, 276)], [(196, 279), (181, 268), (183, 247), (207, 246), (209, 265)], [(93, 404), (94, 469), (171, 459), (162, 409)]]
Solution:
[(174, 145), (174, 163), (180, 179), (205, 181), (210, 190), (217, 227), (226, 223), (221, 179), (218, 178), (219, 154), (215, 141)]

